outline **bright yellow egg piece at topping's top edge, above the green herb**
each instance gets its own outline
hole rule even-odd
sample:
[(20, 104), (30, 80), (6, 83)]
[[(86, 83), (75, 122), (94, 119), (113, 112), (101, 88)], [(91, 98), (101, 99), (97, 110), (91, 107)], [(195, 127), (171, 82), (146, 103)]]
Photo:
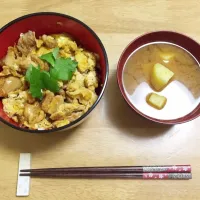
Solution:
[[(66, 34), (59, 34), (59, 35), (55, 34), (52, 36), (56, 39), (59, 48), (67, 47), (69, 52), (75, 52), (77, 50), (76, 42), (73, 41), (72, 38), (70, 38)], [(67, 51), (67, 49), (66, 49), (66, 51)]]

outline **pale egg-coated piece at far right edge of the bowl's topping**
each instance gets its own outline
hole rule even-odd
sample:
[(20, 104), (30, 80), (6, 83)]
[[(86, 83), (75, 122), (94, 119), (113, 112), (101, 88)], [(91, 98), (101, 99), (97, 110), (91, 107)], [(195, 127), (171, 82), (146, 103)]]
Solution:
[(98, 87), (98, 79), (95, 71), (90, 71), (85, 77), (85, 86), (90, 90), (95, 90)]

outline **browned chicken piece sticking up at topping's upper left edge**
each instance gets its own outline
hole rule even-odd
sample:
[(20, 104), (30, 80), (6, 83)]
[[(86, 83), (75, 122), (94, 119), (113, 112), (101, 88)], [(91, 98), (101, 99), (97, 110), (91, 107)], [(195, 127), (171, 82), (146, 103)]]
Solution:
[(27, 56), (32, 51), (36, 50), (35, 32), (28, 31), (21, 34), (17, 43), (17, 49), (22, 55)]

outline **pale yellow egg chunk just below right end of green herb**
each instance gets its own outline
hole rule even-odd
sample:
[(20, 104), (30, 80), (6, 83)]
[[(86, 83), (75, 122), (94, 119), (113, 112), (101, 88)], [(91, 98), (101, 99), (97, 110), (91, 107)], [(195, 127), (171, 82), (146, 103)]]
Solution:
[(72, 79), (67, 84), (67, 91), (75, 91), (80, 87), (84, 87), (84, 79), (85, 77), (79, 71), (75, 71)]

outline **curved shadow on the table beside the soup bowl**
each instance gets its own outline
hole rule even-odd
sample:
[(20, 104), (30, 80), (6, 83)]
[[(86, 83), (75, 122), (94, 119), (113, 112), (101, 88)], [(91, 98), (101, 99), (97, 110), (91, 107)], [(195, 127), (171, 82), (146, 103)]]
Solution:
[[(141, 137), (152, 137), (164, 134), (173, 127), (173, 125), (150, 121), (132, 110), (120, 92), (116, 70), (110, 72), (108, 87), (105, 92), (105, 101), (106, 114), (110, 122), (125, 133)], [(137, 131), (138, 129), (140, 131)]]

